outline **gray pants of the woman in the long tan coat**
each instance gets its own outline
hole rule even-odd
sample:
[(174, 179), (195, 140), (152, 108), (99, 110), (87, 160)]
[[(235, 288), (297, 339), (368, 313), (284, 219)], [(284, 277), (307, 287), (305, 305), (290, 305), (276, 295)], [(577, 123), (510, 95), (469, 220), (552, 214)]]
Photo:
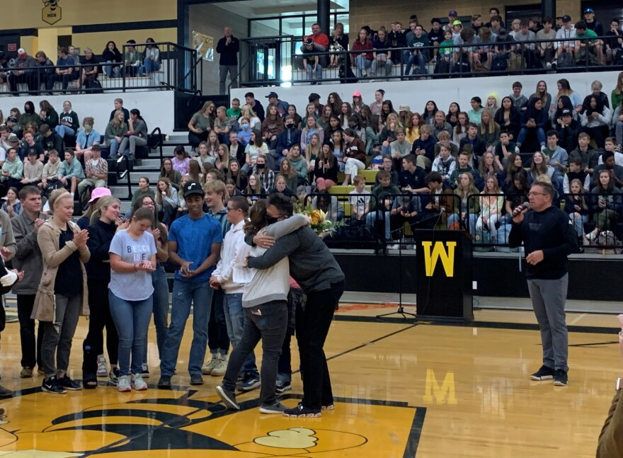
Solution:
[[(56, 294), (55, 323), (43, 323), (43, 343), (41, 345), (41, 362), (45, 377), (50, 378), (69, 367), (69, 353), (72, 352), (72, 339), (78, 326), (81, 294), (65, 296)], [(56, 354), (56, 367), (55, 367)]]

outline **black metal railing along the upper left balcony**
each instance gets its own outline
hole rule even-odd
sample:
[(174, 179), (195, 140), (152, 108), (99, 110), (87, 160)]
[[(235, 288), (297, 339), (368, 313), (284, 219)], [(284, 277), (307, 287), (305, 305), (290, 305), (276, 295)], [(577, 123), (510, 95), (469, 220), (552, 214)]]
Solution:
[(83, 63), (71, 67), (53, 65), (49, 59), (46, 62), (33, 59), (21, 66), (16, 59), (15, 67), (0, 71), (5, 81), (0, 95), (147, 90), (201, 92), (202, 66), (196, 65), (195, 50), (171, 42), (149, 43), (159, 47), (159, 58), (146, 60), (146, 45), (123, 45), (121, 62), (102, 62), (101, 55), (93, 55), (95, 60), (88, 63), (84, 63), (84, 57), (74, 57)]

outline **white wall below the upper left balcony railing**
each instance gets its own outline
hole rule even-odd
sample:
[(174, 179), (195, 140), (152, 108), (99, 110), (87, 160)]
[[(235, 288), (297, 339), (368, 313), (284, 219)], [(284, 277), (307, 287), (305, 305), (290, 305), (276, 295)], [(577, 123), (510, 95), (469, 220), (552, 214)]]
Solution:
[(115, 98), (122, 98), (123, 106), (127, 110), (138, 108), (147, 122), (149, 132), (152, 132), (154, 127), (160, 127), (164, 134), (173, 134), (173, 91), (0, 97), (0, 109), (6, 118), (11, 108), (17, 107), (23, 112), (24, 103), (32, 101), (35, 104), (35, 111), (39, 113), (39, 102), (47, 100), (57, 112), (61, 113), (63, 102), (70, 101), (81, 125), (84, 118), (92, 116), (95, 119), (95, 129), (100, 134), (104, 134), (110, 112), (115, 108)]

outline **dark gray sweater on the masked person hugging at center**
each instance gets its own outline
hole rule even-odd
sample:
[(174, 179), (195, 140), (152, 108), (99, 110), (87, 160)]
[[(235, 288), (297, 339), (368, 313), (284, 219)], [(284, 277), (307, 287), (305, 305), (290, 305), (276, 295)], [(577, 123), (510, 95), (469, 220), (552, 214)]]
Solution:
[[(253, 237), (247, 236), (246, 242), (252, 245)], [(336, 258), (309, 226), (282, 236), (262, 256), (249, 258), (248, 267), (267, 269), (286, 256), (290, 260), (290, 275), (304, 292), (328, 290), (331, 283), (345, 279)]]

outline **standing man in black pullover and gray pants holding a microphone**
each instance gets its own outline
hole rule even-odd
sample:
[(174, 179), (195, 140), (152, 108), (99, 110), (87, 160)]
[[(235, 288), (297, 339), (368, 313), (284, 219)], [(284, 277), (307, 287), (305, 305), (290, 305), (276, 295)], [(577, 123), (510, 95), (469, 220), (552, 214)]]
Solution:
[(532, 380), (554, 379), (554, 385), (568, 384), (568, 336), (565, 301), (568, 287), (567, 256), (578, 249), (573, 225), (565, 212), (552, 204), (554, 188), (535, 183), (530, 188), (530, 210), (526, 205), (513, 211), (513, 228), (508, 236), (510, 248), (522, 243), (527, 263), (526, 278), (535, 310), (543, 365)]

